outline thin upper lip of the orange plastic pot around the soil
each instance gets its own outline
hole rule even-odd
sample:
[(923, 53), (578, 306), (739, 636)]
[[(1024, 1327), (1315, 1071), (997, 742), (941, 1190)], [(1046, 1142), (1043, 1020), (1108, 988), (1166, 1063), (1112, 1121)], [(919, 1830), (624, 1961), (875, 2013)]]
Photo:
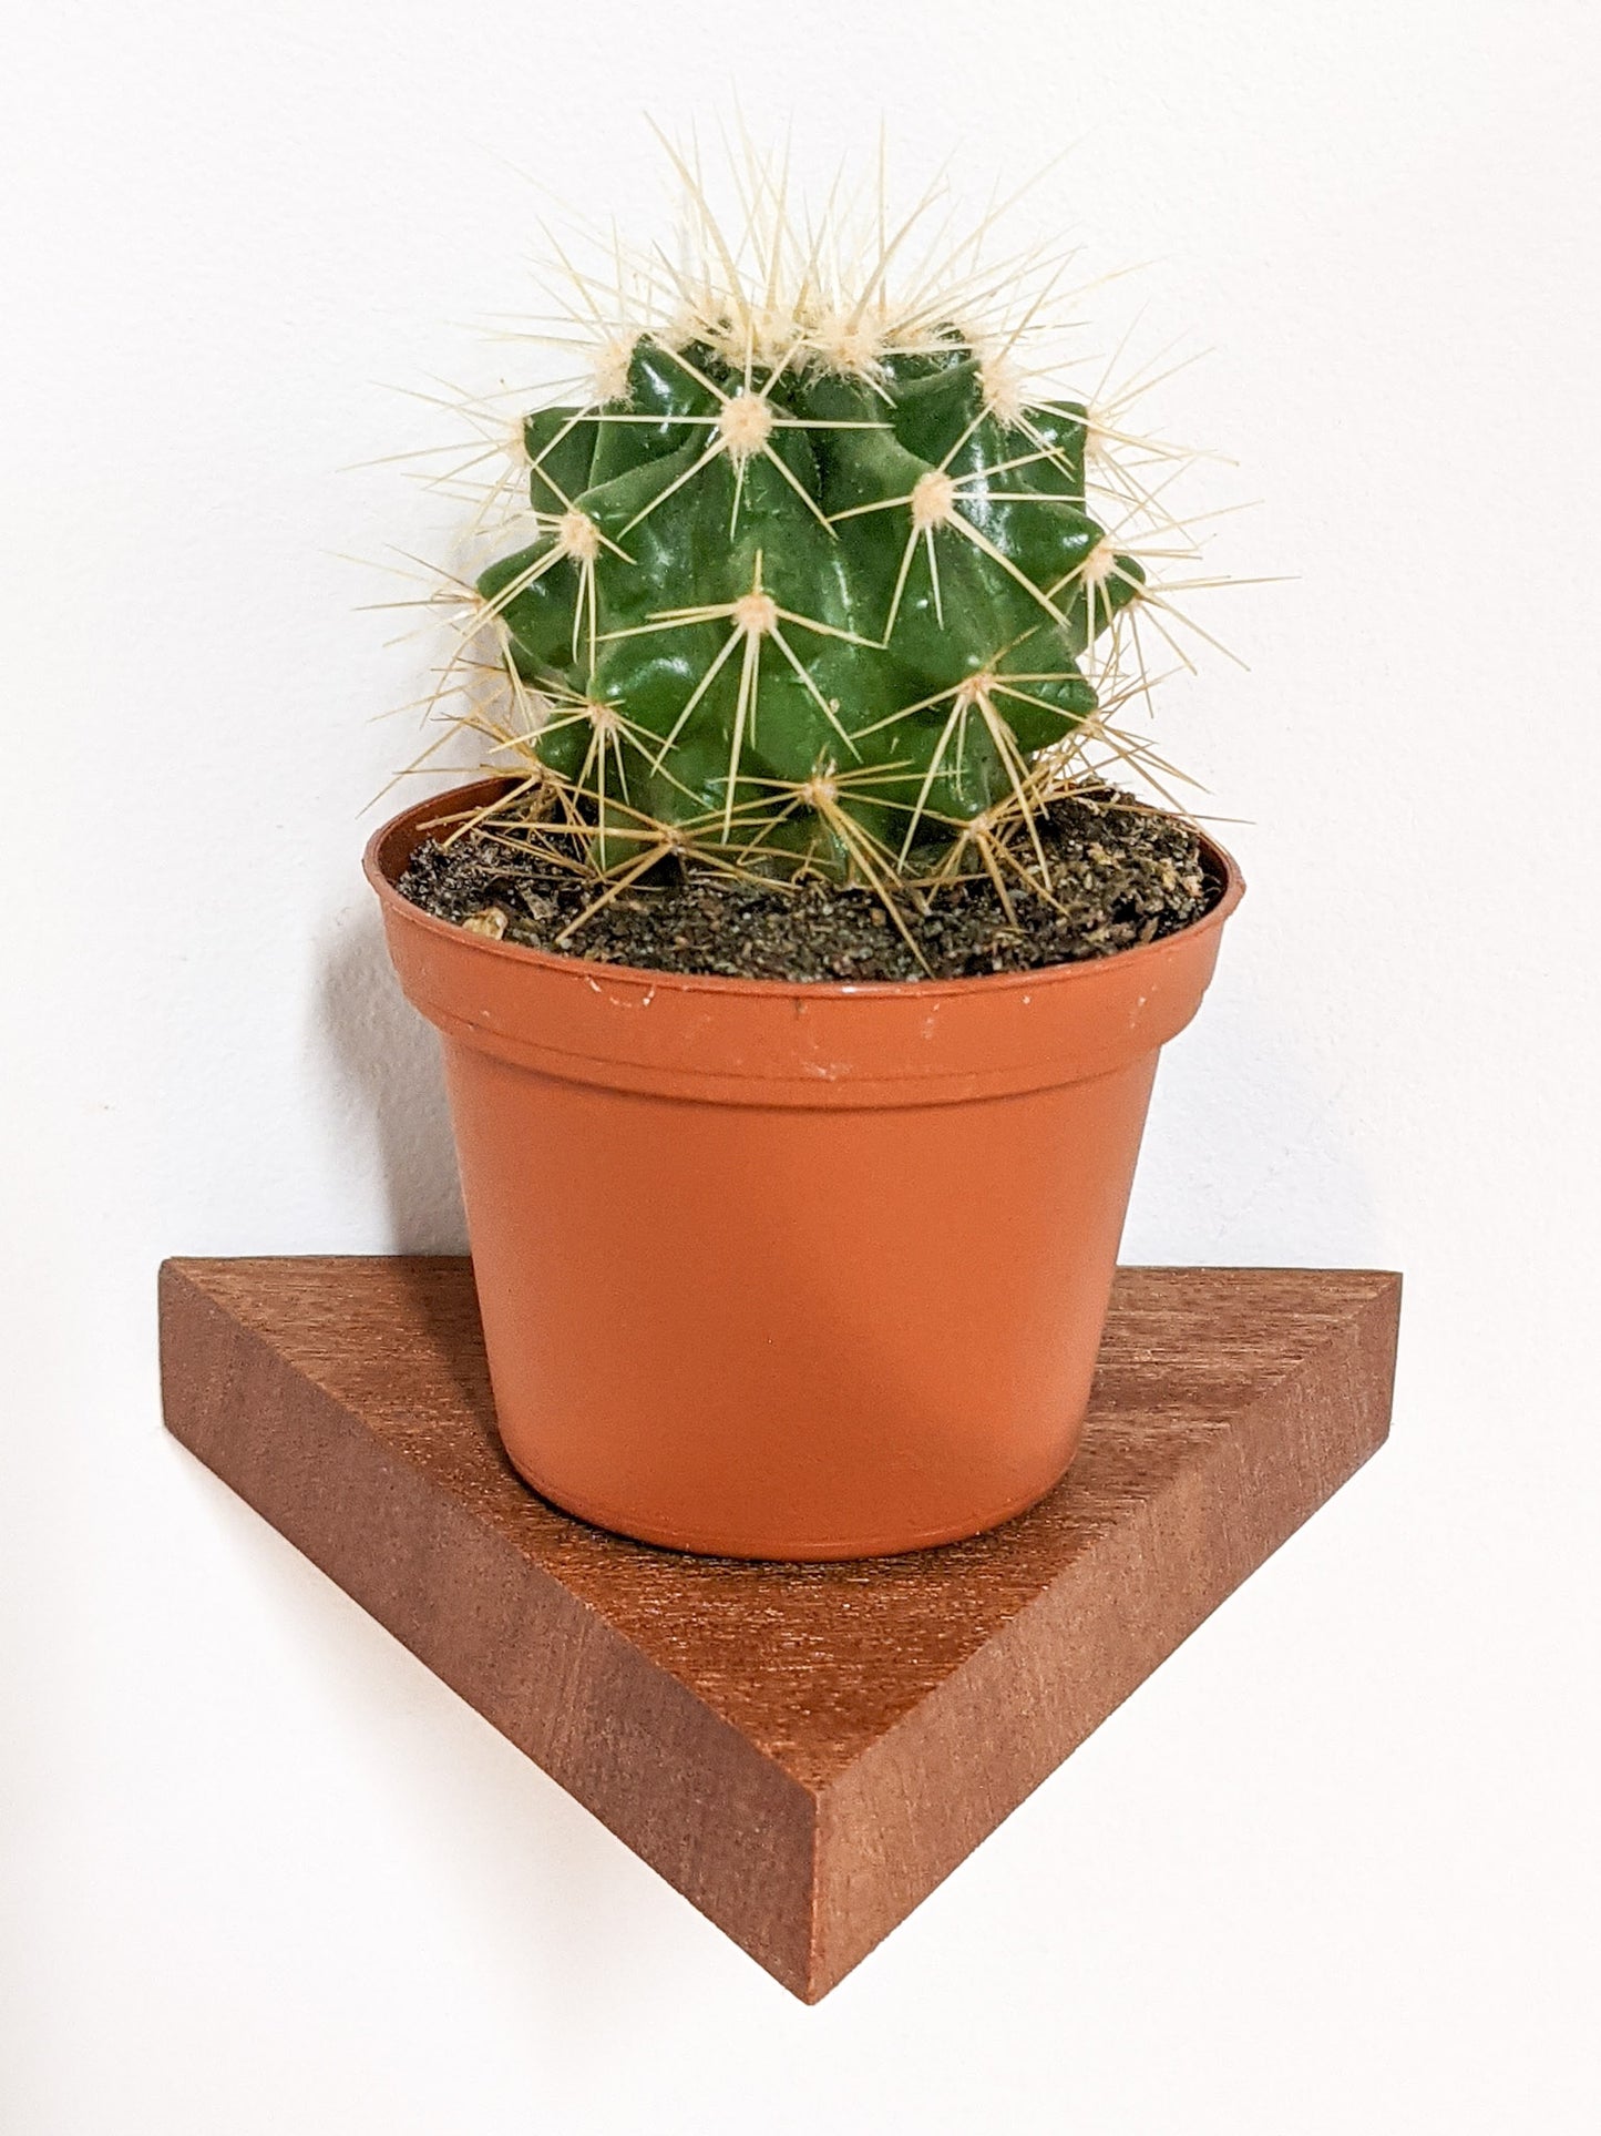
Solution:
[(500, 957), (510, 959), (512, 965), (523, 965), (525, 970), (570, 974), (572, 978), (585, 980), (606, 980), (611, 985), (638, 985), (651, 989), (675, 989), (683, 993), (704, 993), (722, 998), (743, 998), (756, 995), (758, 1000), (786, 1000), (786, 1002), (856, 1002), (856, 1000), (961, 1000), (980, 993), (1010, 993), (1027, 991), (1031, 987), (1044, 985), (1067, 985), (1072, 980), (1089, 980), (1095, 972), (1106, 972), (1110, 965), (1121, 965), (1131, 970), (1142, 959), (1157, 959), (1163, 951), (1172, 951), (1176, 942), (1193, 942), (1206, 933), (1217, 933), (1223, 921), (1230, 918), (1234, 908), (1245, 897), (1245, 876), (1240, 874), (1240, 863), (1208, 837), (1206, 831), (1198, 835), (1206, 859), (1212, 869), (1223, 878), (1223, 895), (1204, 912), (1198, 921), (1187, 927), (1178, 927), (1170, 936), (1159, 936), (1155, 942), (1138, 942), (1134, 948), (1112, 951), (1110, 957), (1080, 957), (1076, 963), (1042, 963), (1029, 972), (978, 972), (969, 978), (732, 978), (724, 972), (666, 972), (653, 970), (643, 963), (604, 963), (596, 957), (570, 957), (564, 951), (529, 948), (525, 942), (495, 942), (489, 936), (470, 933), (455, 921), (442, 921), (433, 912), (425, 912), (414, 906), (410, 897), (401, 897), (395, 882), (382, 867), (380, 852), (382, 846), (401, 829), (410, 818), (421, 816), (423, 810), (444, 807), (453, 801), (461, 801), (470, 792), (478, 792), (485, 786), (504, 786), (500, 778), (476, 778), (461, 786), (448, 786), (444, 792), (431, 795), (427, 801), (414, 801), (399, 814), (391, 816), (389, 822), (378, 824), (378, 829), (367, 839), (365, 852), (361, 857), (361, 869), (378, 893), (378, 901), (384, 914), (403, 921), (410, 927), (418, 927), (425, 936), (450, 942), (455, 948), (467, 955)]

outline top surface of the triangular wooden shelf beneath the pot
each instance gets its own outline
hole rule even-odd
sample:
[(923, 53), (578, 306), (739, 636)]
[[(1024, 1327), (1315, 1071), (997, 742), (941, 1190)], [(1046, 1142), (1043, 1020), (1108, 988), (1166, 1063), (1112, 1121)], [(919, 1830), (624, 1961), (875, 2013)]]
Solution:
[(173, 1271), (813, 1790), (1398, 1288), (1351, 1269), (1121, 1269), (1084, 1442), (1050, 1497), (937, 1551), (775, 1566), (628, 1542), (536, 1497), (495, 1438), (465, 1258)]

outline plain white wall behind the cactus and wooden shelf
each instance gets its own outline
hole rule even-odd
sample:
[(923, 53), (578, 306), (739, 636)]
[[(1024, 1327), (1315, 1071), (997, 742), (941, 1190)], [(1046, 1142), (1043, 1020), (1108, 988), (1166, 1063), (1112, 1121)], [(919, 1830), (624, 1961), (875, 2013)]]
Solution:
[[(9, 38), (0, 2125), (1592, 2130), (1597, 30), (1388, 0), (109, 0)], [(17, 64), (19, 60), (19, 64)], [(1129, 1258), (1407, 1271), (1396, 1438), (818, 2010), (160, 1433), (164, 1252), (450, 1243), (361, 807), (540, 207), (640, 124), (1078, 150), (1225, 444), (1251, 878)], [(815, 154), (813, 154), (815, 145)], [(493, 367), (493, 365), (491, 365)], [(1588, 2110), (1586, 2110), (1588, 2108)]]

